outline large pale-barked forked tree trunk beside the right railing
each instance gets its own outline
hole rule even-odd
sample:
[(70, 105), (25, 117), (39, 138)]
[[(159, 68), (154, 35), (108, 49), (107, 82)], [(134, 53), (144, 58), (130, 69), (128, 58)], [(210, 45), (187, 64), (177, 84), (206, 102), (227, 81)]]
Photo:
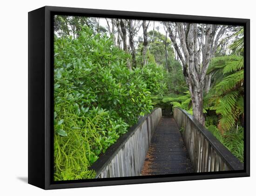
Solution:
[[(222, 26), (203, 25), (201, 38), (204, 43), (198, 44), (197, 24), (195, 23), (175, 23), (175, 30), (178, 32), (178, 38), (173, 33), (170, 23), (165, 22), (169, 32), (169, 37), (173, 43), (175, 51), (180, 58), (183, 66), (183, 73), (189, 86), (189, 92), (192, 99), (193, 116), (204, 125), (203, 116), (203, 91), (205, 88), (205, 76), (209, 67), (210, 58), (216, 52), (218, 39), (224, 32)], [(181, 50), (177, 40), (181, 45)], [(200, 61), (200, 51), (202, 51), (202, 65)]]

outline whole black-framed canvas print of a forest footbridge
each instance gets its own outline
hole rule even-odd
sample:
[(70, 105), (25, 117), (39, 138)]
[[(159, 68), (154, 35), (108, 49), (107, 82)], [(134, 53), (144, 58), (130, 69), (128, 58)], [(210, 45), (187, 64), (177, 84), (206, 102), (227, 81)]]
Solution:
[(28, 183), (249, 176), (249, 19), (28, 13)]

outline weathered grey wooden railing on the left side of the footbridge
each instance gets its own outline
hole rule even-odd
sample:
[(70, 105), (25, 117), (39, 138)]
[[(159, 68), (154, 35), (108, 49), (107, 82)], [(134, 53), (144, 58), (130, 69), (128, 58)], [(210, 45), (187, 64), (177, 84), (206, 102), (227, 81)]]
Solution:
[(161, 118), (162, 109), (154, 109), (102, 153), (90, 168), (96, 171), (96, 178), (139, 176), (152, 135)]

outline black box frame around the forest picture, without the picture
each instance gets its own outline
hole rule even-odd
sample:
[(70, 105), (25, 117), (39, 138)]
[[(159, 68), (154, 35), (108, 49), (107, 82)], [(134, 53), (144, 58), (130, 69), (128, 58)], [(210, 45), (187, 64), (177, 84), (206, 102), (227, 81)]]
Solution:
[[(244, 26), (244, 169), (160, 176), (53, 181), (53, 16), (147, 19)], [(156, 183), (228, 177), (249, 177), (250, 20), (163, 13), (142, 13), (44, 6), (28, 13), (28, 183), (42, 189), (62, 189), (135, 183)]]

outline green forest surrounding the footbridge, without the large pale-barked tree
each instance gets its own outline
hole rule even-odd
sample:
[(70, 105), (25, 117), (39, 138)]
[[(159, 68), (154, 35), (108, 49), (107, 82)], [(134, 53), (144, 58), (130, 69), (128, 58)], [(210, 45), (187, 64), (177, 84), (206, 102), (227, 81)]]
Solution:
[[(54, 18), (54, 180), (94, 178), (90, 166), (153, 107), (163, 115), (173, 107), (193, 114), (188, 72), (168, 26), (160, 22), (160, 32), (154, 22), (149, 31), (144, 21), (135, 41), (141, 21), (106, 19), (106, 27), (99, 21)], [(243, 161), (243, 28), (226, 28), (233, 35), (211, 54), (203, 115), (209, 131)]]

